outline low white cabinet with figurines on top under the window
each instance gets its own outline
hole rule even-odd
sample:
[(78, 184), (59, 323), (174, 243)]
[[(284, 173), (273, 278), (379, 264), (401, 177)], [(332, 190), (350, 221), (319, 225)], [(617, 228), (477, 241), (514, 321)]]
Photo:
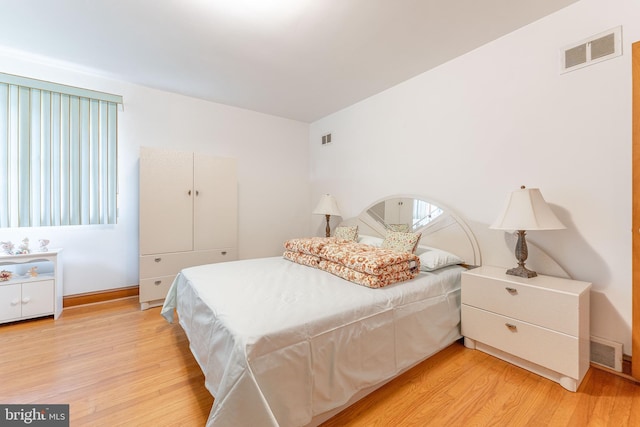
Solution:
[[(11, 271), (10, 280), (0, 282), (0, 323), (62, 313), (61, 249), (0, 256), (0, 269)], [(37, 276), (28, 270), (41, 267)]]

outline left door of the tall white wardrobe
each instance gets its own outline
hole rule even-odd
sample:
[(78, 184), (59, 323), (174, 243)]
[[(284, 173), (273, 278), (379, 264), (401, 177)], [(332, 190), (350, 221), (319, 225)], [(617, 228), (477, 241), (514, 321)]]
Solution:
[(140, 255), (193, 250), (193, 153), (140, 150)]

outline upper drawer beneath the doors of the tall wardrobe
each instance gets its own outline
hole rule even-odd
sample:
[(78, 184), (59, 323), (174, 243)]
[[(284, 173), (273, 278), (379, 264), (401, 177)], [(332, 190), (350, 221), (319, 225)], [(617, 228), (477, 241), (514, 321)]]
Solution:
[(237, 259), (235, 248), (144, 255), (140, 257), (140, 278), (176, 275), (183, 268), (235, 259)]

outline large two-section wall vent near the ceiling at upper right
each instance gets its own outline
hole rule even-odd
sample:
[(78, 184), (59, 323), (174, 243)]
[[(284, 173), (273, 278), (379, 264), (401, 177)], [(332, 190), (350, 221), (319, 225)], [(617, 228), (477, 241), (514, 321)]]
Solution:
[(565, 46), (560, 52), (560, 72), (566, 73), (622, 55), (622, 27)]

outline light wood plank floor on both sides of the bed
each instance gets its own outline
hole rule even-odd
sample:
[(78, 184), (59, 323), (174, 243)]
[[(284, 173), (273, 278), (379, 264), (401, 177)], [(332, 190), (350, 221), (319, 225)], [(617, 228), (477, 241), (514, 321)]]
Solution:
[[(136, 299), (0, 326), (0, 403), (68, 403), (74, 427), (203, 426), (203, 384), (180, 326)], [(640, 386), (591, 368), (571, 393), (456, 343), (325, 426), (640, 426)]]

